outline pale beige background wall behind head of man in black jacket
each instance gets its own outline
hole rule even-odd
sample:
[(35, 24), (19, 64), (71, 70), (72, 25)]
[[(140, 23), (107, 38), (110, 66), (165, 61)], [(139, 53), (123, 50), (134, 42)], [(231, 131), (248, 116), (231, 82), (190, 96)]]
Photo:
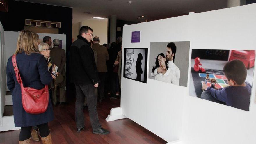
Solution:
[(92, 28), (93, 29), (93, 37), (95, 37), (95, 36), (99, 37), (100, 45), (103, 45), (104, 43), (107, 44), (107, 41), (108, 41), (108, 21), (107, 21), (107, 19), (104, 19), (104, 20), (88, 19), (88, 20), (73, 24), (72, 37), (74, 38), (74, 40), (77, 39), (78, 31), (81, 26), (89, 26), (90, 28)]

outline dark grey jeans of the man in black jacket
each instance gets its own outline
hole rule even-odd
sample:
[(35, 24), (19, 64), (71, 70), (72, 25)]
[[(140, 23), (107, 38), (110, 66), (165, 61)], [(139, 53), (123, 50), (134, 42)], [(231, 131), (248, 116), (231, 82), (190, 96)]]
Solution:
[(93, 130), (101, 128), (99, 123), (98, 111), (97, 111), (97, 97), (95, 93), (95, 87), (93, 84), (75, 84), (76, 86), (76, 124), (77, 128), (81, 129), (84, 127), (84, 116), (83, 116), (83, 103), (84, 98), (87, 99), (87, 106), (90, 115), (91, 125)]

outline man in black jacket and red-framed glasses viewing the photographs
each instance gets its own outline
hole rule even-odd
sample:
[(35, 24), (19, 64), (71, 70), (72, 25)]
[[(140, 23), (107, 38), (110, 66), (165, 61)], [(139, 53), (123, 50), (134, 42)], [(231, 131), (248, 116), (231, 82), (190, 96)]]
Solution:
[(82, 26), (77, 40), (70, 47), (70, 82), (76, 87), (77, 132), (84, 129), (83, 102), (86, 97), (93, 133), (109, 134), (109, 131), (101, 127), (98, 118), (95, 88), (98, 87), (99, 78), (94, 53), (89, 43), (92, 38), (93, 29)]

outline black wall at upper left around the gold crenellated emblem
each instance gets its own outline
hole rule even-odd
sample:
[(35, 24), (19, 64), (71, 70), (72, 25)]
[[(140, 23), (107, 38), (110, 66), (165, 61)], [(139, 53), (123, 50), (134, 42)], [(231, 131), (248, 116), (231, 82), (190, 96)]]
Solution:
[(0, 12), (0, 21), (5, 31), (23, 30), (25, 19), (61, 22), (59, 34), (66, 35), (66, 79), (68, 83), (68, 53), (72, 43), (72, 8), (9, 0), (8, 11)]

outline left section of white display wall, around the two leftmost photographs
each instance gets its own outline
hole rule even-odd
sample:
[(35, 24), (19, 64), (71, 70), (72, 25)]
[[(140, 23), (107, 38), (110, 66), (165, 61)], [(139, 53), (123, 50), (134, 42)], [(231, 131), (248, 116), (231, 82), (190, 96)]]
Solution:
[[(188, 23), (189, 15), (124, 26), (123, 48), (148, 48), (150, 53), (150, 42), (190, 41)], [(140, 43), (131, 43), (132, 31), (141, 31)], [(166, 47), (162, 49), (166, 51)], [(149, 65), (147, 67), (148, 71), (152, 70)], [(121, 89), (123, 115), (166, 141), (181, 138), (183, 99), (187, 87), (152, 79), (147, 79), (145, 84), (122, 77)]]

